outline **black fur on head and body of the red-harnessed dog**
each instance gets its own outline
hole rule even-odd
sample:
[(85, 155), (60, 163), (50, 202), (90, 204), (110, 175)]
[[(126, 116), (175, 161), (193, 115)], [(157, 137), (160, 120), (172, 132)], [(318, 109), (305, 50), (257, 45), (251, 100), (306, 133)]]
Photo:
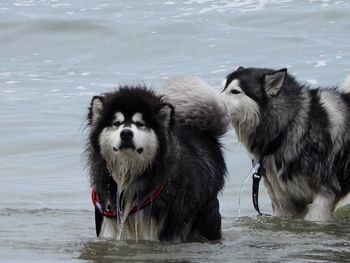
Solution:
[[(217, 195), (224, 185), (226, 167), (218, 137), (181, 124), (183, 121), (174, 117), (174, 107), (144, 86), (120, 87), (98, 99), (103, 102), (103, 111), (101, 118), (93, 124), (92, 108), (89, 109), (90, 133), (86, 150), (91, 185), (97, 192), (108, 198), (109, 189), (112, 206), (116, 207), (113, 201), (116, 200), (116, 183), (111, 183), (100, 154), (100, 133), (112, 125), (117, 111), (126, 115), (141, 112), (146, 126), (155, 131), (159, 148), (151, 168), (134, 182), (138, 189), (135, 199), (137, 196), (142, 199), (168, 181), (160, 198), (144, 208), (157, 222), (163, 221), (159, 240), (220, 239)], [(162, 111), (164, 108), (170, 109), (167, 116)]]

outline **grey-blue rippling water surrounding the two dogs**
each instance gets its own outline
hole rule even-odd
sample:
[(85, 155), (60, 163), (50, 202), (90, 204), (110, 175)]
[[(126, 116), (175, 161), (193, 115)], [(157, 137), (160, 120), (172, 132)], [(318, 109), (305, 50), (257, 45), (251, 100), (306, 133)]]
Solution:
[[(350, 206), (332, 224), (260, 218), (231, 132), (222, 241), (95, 238), (82, 158), (94, 94), (237, 66), (287, 67), (310, 85), (350, 72), (350, 3), (335, 0), (0, 2), (0, 262), (326, 262), (350, 258)], [(265, 192), (260, 206), (271, 212)]]

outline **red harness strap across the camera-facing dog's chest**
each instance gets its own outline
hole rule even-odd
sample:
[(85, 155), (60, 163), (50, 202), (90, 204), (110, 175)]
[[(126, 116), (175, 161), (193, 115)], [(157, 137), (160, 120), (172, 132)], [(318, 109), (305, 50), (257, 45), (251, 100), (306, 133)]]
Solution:
[[(134, 206), (130, 210), (129, 215), (134, 214), (134, 213), (142, 210), (146, 206), (150, 205), (153, 201), (155, 201), (156, 199), (158, 199), (161, 196), (161, 194), (164, 192), (164, 189), (165, 189), (165, 184), (162, 184), (159, 187), (159, 189), (153, 195), (151, 195), (145, 201), (143, 201), (143, 203), (139, 207), (138, 206)], [(95, 186), (92, 188), (91, 199), (92, 199), (92, 203), (94, 204), (95, 208), (97, 208), (97, 210), (103, 216), (105, 216), (105, 217), (117, 217), (118, 216), (118, 212), (117, 211), (106, 208), (106, 207), (109, 206), (109, 204), (102, 205), (102, 203), (101, 203), (102, 198), (96, 192), (96, 187)]]

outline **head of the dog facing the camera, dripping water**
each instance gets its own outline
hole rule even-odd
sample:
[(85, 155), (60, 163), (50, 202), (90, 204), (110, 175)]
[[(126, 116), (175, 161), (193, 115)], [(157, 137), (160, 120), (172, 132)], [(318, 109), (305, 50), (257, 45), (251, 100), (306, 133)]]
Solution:
[(150, 168), (164, 151), (174, 109), (145, 87), (121, 87), (93, 97), (90, 144), (119, 186)]

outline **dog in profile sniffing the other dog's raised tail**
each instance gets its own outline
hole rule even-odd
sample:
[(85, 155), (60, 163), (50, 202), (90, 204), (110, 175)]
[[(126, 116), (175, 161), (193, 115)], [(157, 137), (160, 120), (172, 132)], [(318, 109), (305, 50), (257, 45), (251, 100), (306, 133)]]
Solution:
[(240, 67), (223, 83), (238, 139), (265, 168), (275, 215), (327, 221), (350, 191), (350, 94), (286, 69)]

